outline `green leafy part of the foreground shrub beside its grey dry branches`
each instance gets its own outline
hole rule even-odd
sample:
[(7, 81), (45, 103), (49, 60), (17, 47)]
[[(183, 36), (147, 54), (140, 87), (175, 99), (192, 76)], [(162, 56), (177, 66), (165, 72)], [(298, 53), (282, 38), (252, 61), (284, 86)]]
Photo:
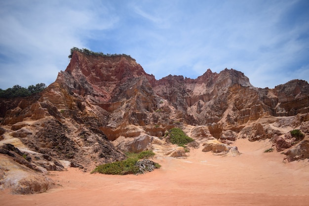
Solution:
[[(114, 162), (114, 163), (108, 163), (104, 165), (98, 165), (96, 168), (91, 172), (99, 172), (102, 174), (137, 174), (139, 172), (139, 167), (136, 166), (136, 163), (140, 159), (147, 159), (150, 157), (153, 157), (155, 154), (153, 151), (143, 151), (140, 153), (127, 153), (126, 156), (128, 159)], [(160, 168), (159, 164), (155, 164), (156, 168)]]

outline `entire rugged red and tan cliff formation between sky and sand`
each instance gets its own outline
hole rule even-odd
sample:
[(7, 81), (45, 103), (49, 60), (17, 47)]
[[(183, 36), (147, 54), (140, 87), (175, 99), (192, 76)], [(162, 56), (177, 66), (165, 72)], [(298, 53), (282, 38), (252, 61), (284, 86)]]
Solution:
[[(168, 129), (186, 125), (193, 127), (186, 133), (206, 145), (205, 151), (230, 150), (228, 145), (237, 138), (270, 139), (278, 151), (295, 147), (286, 153), (291, 154), (289, 160), (307, 158), (308, 116), (305, 81), (262, 89), (233, 69), (219, 74), (208, 69), (197, 79), (169, 75), (155, 80), (129, 56), (78, 51), (38, 95), (0, 101), (2, 125), (27, 122), (17, 133), (6, 133), (21, 138), (33, 151), (80, 167), (121, 160), (123, 151), (151, 148), (186, 156), (164, 141)], [(285, 135), (295, 128), (303, 131), (305, 142), (292, 146)], [(208, 144), (209, 139), (221, 144)]]

